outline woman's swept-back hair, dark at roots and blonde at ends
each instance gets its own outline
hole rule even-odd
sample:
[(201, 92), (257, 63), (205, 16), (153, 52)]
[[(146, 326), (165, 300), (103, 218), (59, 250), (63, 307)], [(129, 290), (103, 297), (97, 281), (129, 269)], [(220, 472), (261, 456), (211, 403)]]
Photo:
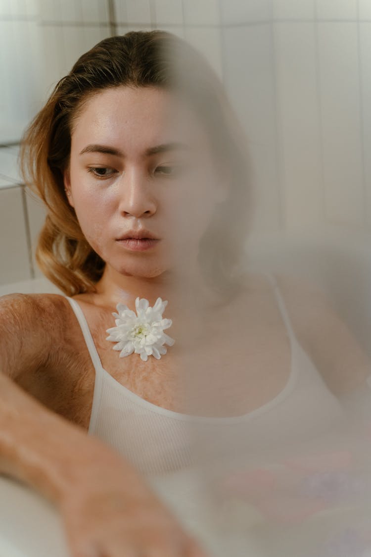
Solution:
[(216, 160), (230, 169), (229, 197), (200, 243), (205, 276), (210, 284), (225, 287), (250, 221), (245, 136), (215, 72), (190, 45), (165, 31), (132, 31), (98, 43), (58, 82), (28, 126), (21, 144), (21, 171), (47, 209), (36, 249), (39, 267), (69, 296), (95, 291), (102, 276), (105, 262), (83, 236), (67, 201), (63, 172), (70, 159), (71, 129), (85, 102), (98, 91), (122, 85), (176, 91), (204, 122)]

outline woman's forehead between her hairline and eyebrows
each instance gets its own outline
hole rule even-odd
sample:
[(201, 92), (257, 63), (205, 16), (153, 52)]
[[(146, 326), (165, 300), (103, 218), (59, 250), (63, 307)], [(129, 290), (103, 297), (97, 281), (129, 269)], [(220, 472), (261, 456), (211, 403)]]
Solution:
[(208, 143), (196, 114), (170, 91), (157, 87), (115, 87), (98, 92), (83, 105), (72, 130), (72, 149), (86, 144), (149, 148)]

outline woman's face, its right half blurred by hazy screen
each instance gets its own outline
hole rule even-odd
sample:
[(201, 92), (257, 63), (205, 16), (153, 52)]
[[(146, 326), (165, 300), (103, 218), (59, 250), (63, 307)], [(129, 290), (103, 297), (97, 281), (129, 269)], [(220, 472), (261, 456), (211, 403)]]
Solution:
[(224, 194), (209, 138), (171, 92), (98, 92), (73, 124), (68, 201), (92, 248), (123, 275), (195, 264)]

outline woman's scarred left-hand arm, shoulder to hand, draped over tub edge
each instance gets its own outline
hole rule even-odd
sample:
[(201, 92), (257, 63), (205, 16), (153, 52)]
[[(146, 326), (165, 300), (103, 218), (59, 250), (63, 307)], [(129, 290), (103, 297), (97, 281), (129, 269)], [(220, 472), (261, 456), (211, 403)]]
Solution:
[(56, 504), (72, 557), (205, 556), (128, 462), (14, 383), (48, 357), (53, 312), (47, 298), (0, 299), (0, 473)]

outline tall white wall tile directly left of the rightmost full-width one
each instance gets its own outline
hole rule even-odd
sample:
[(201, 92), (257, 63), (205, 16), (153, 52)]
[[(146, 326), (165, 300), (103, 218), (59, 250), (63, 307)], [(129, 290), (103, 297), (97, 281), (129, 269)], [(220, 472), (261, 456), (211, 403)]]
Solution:
[(313, 23), (275, 23), (276, 94), (286, 228), (324, 222), (315, 41)]

